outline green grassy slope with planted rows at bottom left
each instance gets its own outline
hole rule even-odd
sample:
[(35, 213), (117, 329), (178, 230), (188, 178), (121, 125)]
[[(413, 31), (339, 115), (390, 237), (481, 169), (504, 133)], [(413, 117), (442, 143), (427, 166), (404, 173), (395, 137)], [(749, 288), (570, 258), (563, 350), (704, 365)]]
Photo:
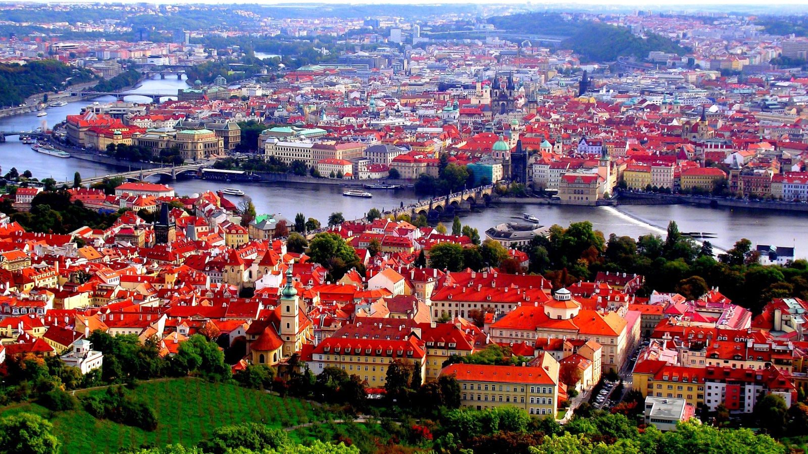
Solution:
[[(103, 390), (88, 393), (103, 393)], [(51, 415), (36, 404), (11, 406), (0, 415), (30, 412), (49, 418), (62, 443), (62, 452), (118, 452), (142, 444), (194, 444), (214, 428), (240, 422), (261, 422), (270, 427), (290, 427), (318, 420), (312, 406), (299, 399), (272, 396), (237, 385), (178, 379), (141, 383), (134, 393), (152, 403), (158, 428), (141, 431), (107, 420), (98, 420), (84, 410)]]

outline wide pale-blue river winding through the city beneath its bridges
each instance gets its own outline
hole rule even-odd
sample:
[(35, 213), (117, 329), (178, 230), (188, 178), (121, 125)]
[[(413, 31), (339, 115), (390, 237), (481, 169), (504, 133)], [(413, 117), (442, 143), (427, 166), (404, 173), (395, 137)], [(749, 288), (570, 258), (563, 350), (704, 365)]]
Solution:
[[(133, 96), (127, 101), (148, 102), (148, 98), (137, 97), (137, 93), (176, 94), (178, 88), (187, 87), (184, 81), (175, 78), (153, 79), (142, 82), (141, 86), (128, 90)], [(112, 97), (96, 99), (99, 103), (112, 101)], [(23, 131), (41, 126), (45, 120), (48, 126), (59, 123), (65, 116), (77, 114), (87, 102), (68, 103), (63, 107), (51, 107), (48, 116), (37, 117), (35, 113), (0, 119), (0, 130)], [(83, 161), (62, 159), (36, 153), (28, 145), (23, 145), (17, 137), (8, 137), (0, 144), (0, 167), (5, 174), (11, 167), (20, 173), (31, 170), (39, 179), (52, 177), (57, 180), (72, 180), (74, 172), (83, 176), (103, 175), (120, 171), (113, 166)], [(152, 179), (157, 181), (156, 179)], [(418, 200), (411, 190), (399, 189), (372, 190), (372, 199), (345, 197), (343, 187), (335, 185), (309, 185), (301, 183), (217, 183), (200, 179), (185, 179), (170, 183), (178, 194), (191, 195), (200, 191), (215, 190), (217, 187), (236, 187), (245, 191), (255, 203), (259, 213), (273, 213), (294, 219), (297, 212), (307, 217), (326, 221), (331, 212), (343, 212), (348, 218), (363, 216), (370, 208), (393, 208), (402, 202), (410, 204)], [(238, 201), (238, 197), (232, 197)], [(676, 221), (681, 231), (702, 231), (716, 233), (714, 246), (729, 249), (740, 238), (748, 238), (753, 244), (773, 244), (775, 246), (796, 247), (797, 257), (808, 256), (805, 213), (755, 211), (739, 208), (709, 208), (695, 205), (654, 205), (613, 207), (577, 207), (558, 205), (501, 204), (473, 213), (463, 218), (464, 224), (472, 225), (482, 234), (486, 229), (506, 221), (518, 221), (522, 213), (537, 216), (542, 225), (569, 225), (570, 222), (591, 221), (608, 237), (609, 233), (629, 235), (637, 238), (647, 233), (661, 234), (668, 221)]]

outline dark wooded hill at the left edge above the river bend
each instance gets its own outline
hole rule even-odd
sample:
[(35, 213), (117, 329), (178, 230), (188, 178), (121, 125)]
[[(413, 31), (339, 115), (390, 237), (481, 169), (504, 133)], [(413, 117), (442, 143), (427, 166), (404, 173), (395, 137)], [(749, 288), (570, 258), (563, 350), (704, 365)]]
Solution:
[(22, 104), (28, 96), (65, 90), (66, 86), (92, 79), (89, 69), (56, 60), (29, 61), (25, 65), (0, 63), (0, 107)]

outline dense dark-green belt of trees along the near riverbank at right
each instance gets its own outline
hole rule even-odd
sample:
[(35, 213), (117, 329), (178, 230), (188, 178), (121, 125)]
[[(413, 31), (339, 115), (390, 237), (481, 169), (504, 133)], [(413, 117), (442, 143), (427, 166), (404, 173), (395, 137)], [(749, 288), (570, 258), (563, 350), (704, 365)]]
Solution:
[(637, 240), (612, 234), (607, 241), (588, 221), (572, 223), (566, 229), (553, 225), (548, 238), (533, 238), (524, 251), (530, 258), (530, 271), (545, 275), (554, 288), (611, 271), (644, 275), (638, 296), (656, 290), (697, 298), (718, 287), (723, 295), (754, 312), (775, 297), (808, 297), (805, 260), (785, 267), (762, 266), (747, 239), (717, 260), (709, 242), (700, 245), (684, 237), (673, 221), (664, 240), (651, 234)]

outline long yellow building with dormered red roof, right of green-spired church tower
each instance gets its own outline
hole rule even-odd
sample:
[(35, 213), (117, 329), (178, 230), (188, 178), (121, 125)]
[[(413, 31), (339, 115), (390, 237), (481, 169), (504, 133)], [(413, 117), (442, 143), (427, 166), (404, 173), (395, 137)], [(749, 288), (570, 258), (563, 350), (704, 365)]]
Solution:
[[(309, 369), (318, 375), (325, 368), (341, 368), (348, 375), (359, 376), (372, 388), (385, 385), (387, 368), (393, 361), (419, 368), (421, 383), (426, 375), (426, 349), (416, 335), (406, 339), (325, 338), (314, 347)], [(413, 386), (416, 386), (413, 384)]]

